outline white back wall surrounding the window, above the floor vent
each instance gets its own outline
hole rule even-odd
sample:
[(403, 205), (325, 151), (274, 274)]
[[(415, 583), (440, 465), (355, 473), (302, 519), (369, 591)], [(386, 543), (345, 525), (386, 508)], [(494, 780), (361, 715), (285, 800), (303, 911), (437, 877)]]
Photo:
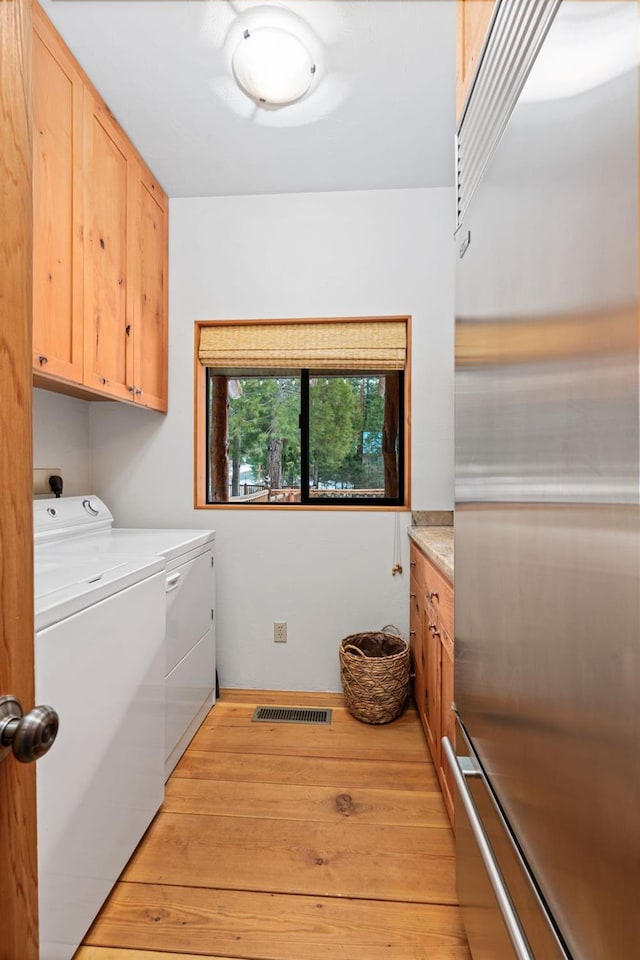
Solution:
[(410, 314), (412, 506), (451, 509), (453, 210), (451, 189), (171, 201), (169, 414), (94, 404), (93, 486), (121, 526), (216, 529), (223, 686), (338, 690), (343, 636), (406, 631), (409, 515), (195, 511), (194, 321)]

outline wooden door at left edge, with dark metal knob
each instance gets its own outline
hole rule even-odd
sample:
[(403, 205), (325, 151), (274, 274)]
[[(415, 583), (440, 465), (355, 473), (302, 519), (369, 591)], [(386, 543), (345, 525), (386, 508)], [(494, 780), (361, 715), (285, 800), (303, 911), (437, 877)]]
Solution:
[[(33, 706), (31, 3), (0, 3), (0, 693)], [(0, 960), (37, 960), (36, 771), (0, 763)]]

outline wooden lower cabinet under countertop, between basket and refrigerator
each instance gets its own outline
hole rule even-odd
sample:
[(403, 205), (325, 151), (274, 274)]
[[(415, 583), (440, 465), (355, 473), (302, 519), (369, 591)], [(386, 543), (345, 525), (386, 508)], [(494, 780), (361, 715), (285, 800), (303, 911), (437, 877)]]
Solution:
[(453, 585), (411, 545), (409, 632), (414, 699), (438, 775), (445, 806), (455, 826), (455, 789), (442, 750), (442, 737), (455, 745), (452, 710)]

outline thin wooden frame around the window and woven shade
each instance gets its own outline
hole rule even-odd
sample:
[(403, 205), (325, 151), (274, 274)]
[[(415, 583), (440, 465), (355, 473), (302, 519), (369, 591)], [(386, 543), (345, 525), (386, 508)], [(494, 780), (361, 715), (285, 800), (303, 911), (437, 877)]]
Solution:
[[(404, 367), (404, 491), (403, 501), (397, 504), (376, 505), (370, 503), (207, 503), (207, 411), (206, 411), (206, 382), (207, 368), (198, 357), (200, 329), (202, 327), (218, 326), (225, 323), (241, 324), (268, 324), (268, 323), (358, 323), (375, 320), (400, 320), (406, 324), (407, 356)], [(197, 320), (194, 325), (194, 509), (196, 510), (374, 510), (406, 512), (411, 509), (411, 317), (384, 316), (384, 317), (310, 317), (270, 320)]]

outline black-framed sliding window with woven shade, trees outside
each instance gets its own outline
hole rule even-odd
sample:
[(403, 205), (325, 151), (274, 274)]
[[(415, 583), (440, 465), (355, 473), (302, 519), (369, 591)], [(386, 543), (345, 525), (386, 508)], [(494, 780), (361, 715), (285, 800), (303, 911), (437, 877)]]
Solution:
[(197, 505), (405, 505), (406, 326), (199, 324)]

